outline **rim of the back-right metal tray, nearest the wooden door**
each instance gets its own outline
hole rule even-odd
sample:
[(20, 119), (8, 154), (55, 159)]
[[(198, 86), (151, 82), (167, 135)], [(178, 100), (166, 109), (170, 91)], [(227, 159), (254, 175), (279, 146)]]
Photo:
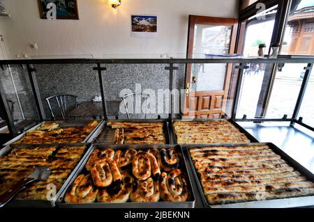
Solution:
[[(172, 141), (174, 142), (174, 144), (177, 144), (177, 135), (175, 134), (174, 131), (174, 126), (173, 126), (173, 122), (175, 121), (181, 121), (181, 122), (207, 122), (207, 121), (219, 121), (219, 120), (227, 120), (228, 122), (230, 122), (232, 125), (234, 125), (234, 127), (237, 127), (237, 129), (239, 129), (239, 132), (243, 133), (244, 135), (246, 135), (246, 137), (251, 141), (251, 143), (259, 143), (259, 141), (257, 141), (257, 139), (252, 136), (249, 132), (246, 131), (246, 129), (244, 129), (243, 127), (241, 127), (239, 124), (237, 124), (237, 122), (234, 122), (234, 120), (232, 119), (225, 119), (225, 118), (221, 118), (221, 119), (174, 119), (172, 120), (172, 122), (170, 123), (170, 128), (172, 130)], [(184, 145), (184, 144), (182, 144)]]

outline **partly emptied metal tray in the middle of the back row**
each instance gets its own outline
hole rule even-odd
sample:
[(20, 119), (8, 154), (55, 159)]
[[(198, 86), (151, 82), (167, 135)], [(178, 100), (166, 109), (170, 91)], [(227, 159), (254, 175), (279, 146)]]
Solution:
[[(107, 120), (107, 122), (164, 122), (163, 133), (165, 134), (165, 144), (172, 144), (172, 136), (170, 136), (169, 122), (167, 120)], [(107, 122), (101, 122), (98, 129), (87, 141), (88, 143), (114, 144), (114, 129), (107, 127)]]

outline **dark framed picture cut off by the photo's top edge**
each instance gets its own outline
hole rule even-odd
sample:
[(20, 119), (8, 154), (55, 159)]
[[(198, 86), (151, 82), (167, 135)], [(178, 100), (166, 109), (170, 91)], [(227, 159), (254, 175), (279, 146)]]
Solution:
[(56, 4), (57, 19), (79, 19), (77, 0), (38, 0), (41, 19), (47, 19), (48, 3)]

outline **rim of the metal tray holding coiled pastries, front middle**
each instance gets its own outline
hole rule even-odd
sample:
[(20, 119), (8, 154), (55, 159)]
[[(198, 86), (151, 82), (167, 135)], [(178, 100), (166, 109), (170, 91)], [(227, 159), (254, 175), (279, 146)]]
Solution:
[[(143, 150), (148, 148), (156, 148), (158, 150), (163, 148), (177, 148), (181, 150), (181, 147), (179, 145), (105, 145), (105, 144), (98, 144), (94, 145), (89, 154), (93, 152), (95, 149), (103, 149), (103, 148), (112, 148), (112, 150), (126, 150), (129, 148), (135, 149), (135, 150)], [(186, 171), (188, 175), (188, 183), (190, 187), (191, 192), (191, 200), (186, 202), (166, 202), (166, 201), (160, 201), (157, 203), (134, 203), (134, 202), (128, 202), (128, 203), (88, 203), (88, 204), (68, 204), (64, 203), (63, 199), (66, 195), (66, 192), (70, 187), (72, 186), (74, 180), (77, 178), (78, 175), (82, 174), (82, 171), (86, 171), (84, 169), (85, 164), (87, 163), (88, 159), (85, 159), (84, 162), (80, 165), (80, 168), (78, 168), (75, 175), (72, 177), (68, 185), (66, 186), (66, 189), (63, 190), (63, 193), (61, 196), (59, 196), (59, 199), (57, 200), (57, 205), (59, 207), (63, 208), (193, 208), (195, 205), (195, 193), (193, 191), (192, 183), (190, 181), (190, 174), (188, 172), (188, 169), (186, 168), (186, 159), (184, 157), (184, 153), (181, 150), (181, 155), (184, 158), (183, 163), (183, 169)]]

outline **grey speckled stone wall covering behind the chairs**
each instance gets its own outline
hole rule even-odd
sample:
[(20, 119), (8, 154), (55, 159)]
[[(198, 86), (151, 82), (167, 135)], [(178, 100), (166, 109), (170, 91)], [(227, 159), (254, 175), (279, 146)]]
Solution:
[[(93, 70), (96, 64), (50, 64), (33, 65), (36, 68), (36, 79), (43, 100), (47, 118), (50, 113), (47, 109), (46, 97), (58, 94), (77, 95), (79, 102), (91, 101), (100, 95), (98, 72)], [(102, 64), (107, 68), (103, 72), (105, 86), (105, 100), (120, 100), (119, 93), (123, 89), (135, 91), (135, 84), (141, 84), (142, 90), (150, 88), (169, 88), (169, 71), (167, 64)], [(179, 64), (179, 70), (174, 71), (174, 88), (184, 88), (185, 65)], [(148, 115), (147, 118), (156, 118), (158, 114)], [(131, 118), (144, 118), (144, 115), (134, 114)], [(167, 114), (161, 115), (167, 118)], [(113, 116), (112, 116), (113, 118)], [(120, 113), (119, 118), (126, 118)]]

